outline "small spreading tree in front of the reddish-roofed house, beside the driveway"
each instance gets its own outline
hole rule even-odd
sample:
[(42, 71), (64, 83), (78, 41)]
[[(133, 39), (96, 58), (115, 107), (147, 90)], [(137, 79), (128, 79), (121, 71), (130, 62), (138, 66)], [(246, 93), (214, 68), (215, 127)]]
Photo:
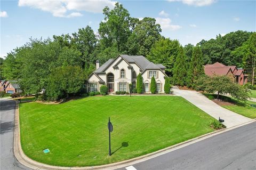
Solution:
[(206, 91), (207, 93), (217, 92), (217, 99), (220, 94), (229, 93), (233, 98), (241, 101), (246, 101), (249, 98), (248, 88), (234, 82), (228, 76), (202, 76), (197, 81), (197, 88)]

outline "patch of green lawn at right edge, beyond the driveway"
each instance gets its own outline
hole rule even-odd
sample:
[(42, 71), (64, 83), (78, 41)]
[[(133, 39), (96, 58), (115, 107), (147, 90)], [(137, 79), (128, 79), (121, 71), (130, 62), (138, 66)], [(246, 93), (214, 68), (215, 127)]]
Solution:
[(242, 103), (235, 101), (234, 103), (234, 105), (222, 107), (252, 119), (256, 118), (256, 108), (250, 106), (250, 104), (256, 105), (256, 102), (247, 101), (246, 103)]

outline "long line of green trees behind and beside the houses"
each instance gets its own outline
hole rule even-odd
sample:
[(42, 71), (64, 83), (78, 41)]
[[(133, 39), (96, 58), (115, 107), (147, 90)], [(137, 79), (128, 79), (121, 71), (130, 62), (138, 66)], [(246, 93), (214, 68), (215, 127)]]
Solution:
[(196, 46), (181, 46), (161, 35), (154, 18), (130, 17), (122, 4), (103, 9), (98, 34), (90, 26), (52, 39), (30, 39), (1, 59), (1, 79), (17, 80), (27, 94), (45, 92), (49, 100), (84, 91), (83, 84), (95, 69), (95, 61), (106, 62), (118, 54), (143, 55), (162, 63), (170, 82), (193, 87), (204, 74), (203, 64), (222, 62), (243, 67), (253, 83), (256, 33), (236, 31)]

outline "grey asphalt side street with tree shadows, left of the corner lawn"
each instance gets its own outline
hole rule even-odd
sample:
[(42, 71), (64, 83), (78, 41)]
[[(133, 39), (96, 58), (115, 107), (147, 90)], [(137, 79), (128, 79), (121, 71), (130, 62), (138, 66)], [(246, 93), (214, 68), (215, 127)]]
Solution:
[(1, 170), (21, 170), (29, 169), (21, 165), (13, 153), (13, 131), (14, 131), (14, 114), (15, 101), (8, 99), (0, 99), (0, 141), (1, 141)]

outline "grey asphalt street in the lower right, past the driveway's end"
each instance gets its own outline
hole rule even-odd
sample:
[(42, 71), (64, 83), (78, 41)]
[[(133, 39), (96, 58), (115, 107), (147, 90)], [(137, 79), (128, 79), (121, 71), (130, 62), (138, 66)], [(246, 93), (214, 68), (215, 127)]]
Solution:
[(256, 122), (121, 169), (256, 169)]

